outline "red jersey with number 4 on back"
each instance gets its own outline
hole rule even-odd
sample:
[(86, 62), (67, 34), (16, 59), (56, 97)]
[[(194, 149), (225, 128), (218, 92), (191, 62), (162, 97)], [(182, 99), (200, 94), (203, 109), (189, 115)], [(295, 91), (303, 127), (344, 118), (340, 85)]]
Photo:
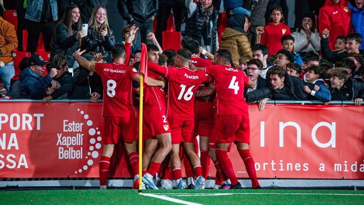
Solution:
[(244, 86), (250, 81), (244, 71), (228, 65), (205, 67), (215, 80), (217, 115), (249, 115)]

